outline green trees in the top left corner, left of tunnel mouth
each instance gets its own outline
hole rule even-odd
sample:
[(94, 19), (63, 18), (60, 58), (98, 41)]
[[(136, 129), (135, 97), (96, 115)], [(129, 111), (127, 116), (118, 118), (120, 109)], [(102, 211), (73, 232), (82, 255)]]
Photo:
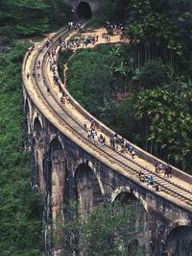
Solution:
[(71, 19), (69, 7), (59, 0), (2, 0), (0, 2), (0, 45), (15, 37), (28, 37), (63, 26)]

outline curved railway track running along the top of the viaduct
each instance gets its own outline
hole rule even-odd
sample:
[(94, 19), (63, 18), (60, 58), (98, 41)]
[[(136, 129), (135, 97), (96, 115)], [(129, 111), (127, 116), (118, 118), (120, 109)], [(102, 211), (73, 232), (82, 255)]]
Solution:
[[(46, 64), (48, 61), (48, 52), (54, 48), (58, 47), (58, 41), (60, 38), (65, 38), (68, 36), (68, 30), (62, 29), (60, 32), (53, 37), (53, 42), (49, 47), (43, 46), (43, 49), (36, 54), (35, 59), (33, 60), (33, 69), (36, 70), (36, 62), (40, 61), (40, 79), (35, 74), (34, 82), (36, 86), (36, 91), (38, 94), (38, 100), (40, 99), (43, 104), (46, 106), (47, 110), (55, 115), (58, 119), (58, 122), (62, 124), (64, 128), (70, 131), (73, 137), (76, 140), (80, 140), (82, 143), (87, 145), (90, 150), (97, 152), (101, 158), (105, 158), (112, 165), (119, 166), (123, 171), (126, 171), (129, 177), (132, 176), (132, 179), (141, 186), (146, 187), (146, 183), (142, 183), (138, 179), (138, 173), (142, 171), (142, 173), (147, 177), (150, 174), (153, 174), (155, 177), (156, 184), (161, 188), (161, 192), (157, 192), (159, 195), (163, 196), (165, 194), (170, 195), (169, 200), (172, 200), (175, 203), (184, 203), (187, 205), (189, 211), (192, 211), (192, 191), (185, 189), (180, 186), (180, 184), (163, 178), (159, 173), (156, 173), (155, 170), (152, 170), (146, 166), (141, 165), (135, 160), (132, 160), (131, 157), (127, 157), (122, 155), (121, 153), (115, 151), (111, 147), (108, 146), (99, 146), (95, 145), (93, 141), (87, 138), (87, 132), (84, 130), (83, 123), (81, 120), (78, 120), (72, 112), (67, 110), (65, 107), (60, 106), (60, 99), (56, 95), (53, 90), (50, 90), (48, 95), (47, 88), (50, 88), (49, 79), (46, 76)], [(29, 56), (28, 56), (29, 57)], [(28, 60), (26, 57), (25, 62), (23, 64), (23, 81), (24, 85), (27, 88), (27, 80), (26, 78), (26, 63)], [(37, 107), (37, 106), (36, 106)], [(149, 188), (151, 191), (154, 189)]]

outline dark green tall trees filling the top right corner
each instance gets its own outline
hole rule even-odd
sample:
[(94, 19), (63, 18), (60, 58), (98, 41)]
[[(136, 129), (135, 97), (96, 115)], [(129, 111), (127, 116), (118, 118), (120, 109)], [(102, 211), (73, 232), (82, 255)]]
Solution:
[[(191, 72), (191, 1), (132, 0), (126, 36), (131, 39), (134, 65), (161, 59), (179, 73)], [(186, 71), (187, 68), (187, 71)]]

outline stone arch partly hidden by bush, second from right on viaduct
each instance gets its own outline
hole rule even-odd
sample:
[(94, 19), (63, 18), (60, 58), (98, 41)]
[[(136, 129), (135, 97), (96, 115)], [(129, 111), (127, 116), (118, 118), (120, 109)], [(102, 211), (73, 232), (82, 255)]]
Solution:
[(120, 203), (120, 205), (117, 205), (120, 209), (119, 211), (121, 211), (121, 208), (126, 207), (126, 209), (128, 208), (132, 212), (135, 212), (135, 214), (138, 214), (135, 217), (136, 219), (131, 220), (129, 224), (128, 228), (131, 228), (130, 238), (122, 238), (119, 241), (120, 246), (127, 249), (129, 255), (136, 255), (138, 253), (150, 255), (152, 234), (148, 221), (150, 215), (147, 212), (145, 200), (137, 192), (133, 192), (130, 187), (120, 187), (111, 195), (111, 202), (114, 204), (115, 201)]

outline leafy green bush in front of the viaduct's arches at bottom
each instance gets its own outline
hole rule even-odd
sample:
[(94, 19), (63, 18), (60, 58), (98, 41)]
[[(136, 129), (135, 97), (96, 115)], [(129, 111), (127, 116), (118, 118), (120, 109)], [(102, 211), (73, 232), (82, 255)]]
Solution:
[(136, 239), (142, 230), (141, 226), (135, 225), (141, 213), (140, 206), (115, 201), (95, 207), (89, 215), (80, 213), (76, 204), (69, 204), (69, 218), (64, 224), (59, 222), (57, 225), (63, 232), (64, 255), (72, 251), (83, 252), (84, 256), (123, 256), (133, 251), (139, 255), (141, 248), (129, 245), (132, 237)]

